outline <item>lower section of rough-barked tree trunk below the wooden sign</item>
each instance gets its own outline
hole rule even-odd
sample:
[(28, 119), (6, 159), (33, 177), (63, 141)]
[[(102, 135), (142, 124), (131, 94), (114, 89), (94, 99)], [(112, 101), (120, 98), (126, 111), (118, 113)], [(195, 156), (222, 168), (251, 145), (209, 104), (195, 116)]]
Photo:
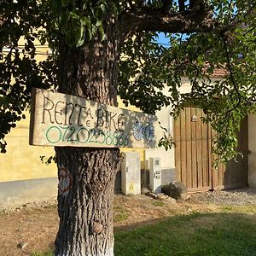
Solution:
[(60, 217), (55, 255), (113, 256), (113, 187), (119, 151), (55, 150)]

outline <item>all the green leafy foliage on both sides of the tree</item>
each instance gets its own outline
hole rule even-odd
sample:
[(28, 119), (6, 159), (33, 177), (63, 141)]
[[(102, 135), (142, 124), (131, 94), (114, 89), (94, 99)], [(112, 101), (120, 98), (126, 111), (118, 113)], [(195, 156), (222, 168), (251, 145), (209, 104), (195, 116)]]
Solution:
[[(201, 106), (217, 131), (213, 152), (230, 160), (237, 154), (241, 120), (254, 111), (256, 100), (255, 14), (253, 0), (1, 1), (1, 152), (5, 135), (29, 107), (32, 86), (57, 90), (61, 40), (77, 49), (96, 38), (108, 40), (104, 22), (111, 16), (119, 24), (128, 22), (119, 34), (118, 93), (125, 104), (147, 113), (172, 105), (174, 116), (188, 102)], [(164, 18), (176, 19), (176, 27), (169, 28)], [(166, 32), (168, 47), (158, 44), (160, 31)], [(53, 49), (46, 61), (36, 61), (38, 41)], [(216, 68), (226, 70), (223, 79), (211, 79)], [(179, 93), (183, 77), (192, 85), (186, 95)]]

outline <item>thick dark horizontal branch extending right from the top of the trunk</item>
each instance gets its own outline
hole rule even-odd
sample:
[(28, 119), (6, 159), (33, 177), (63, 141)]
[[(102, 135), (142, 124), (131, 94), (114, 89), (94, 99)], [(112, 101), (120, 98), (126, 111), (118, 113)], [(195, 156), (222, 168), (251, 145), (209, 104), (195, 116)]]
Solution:
[[(139, 31), (152, 32), (211, 32), (212, 10), (204, 6), (181, 13), (165, 13), (148, 7), (125, 12), (120, 17), (122, 38)], [(127, 26), (127, 24), (129, 26)]]

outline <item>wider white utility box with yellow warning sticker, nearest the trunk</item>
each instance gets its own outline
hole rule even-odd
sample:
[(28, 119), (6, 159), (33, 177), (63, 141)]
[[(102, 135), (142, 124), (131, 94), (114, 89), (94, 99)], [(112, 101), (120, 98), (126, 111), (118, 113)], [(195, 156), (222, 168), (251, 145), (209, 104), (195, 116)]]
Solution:
[(123, 153), (121, 187), (125, 195), (141, 194), (141, 159), (137, 152)]

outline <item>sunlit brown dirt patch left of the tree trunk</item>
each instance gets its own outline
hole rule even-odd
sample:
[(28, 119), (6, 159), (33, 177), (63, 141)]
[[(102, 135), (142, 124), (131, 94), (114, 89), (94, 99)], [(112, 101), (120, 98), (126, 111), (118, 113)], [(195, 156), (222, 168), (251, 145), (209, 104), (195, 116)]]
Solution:
[[(22, 208), (0, 215), (0, 255), (31, 255), (54, 247), (58, 218), (55, 206)], [(19, 243), (27, 244), (23, 249)]]

